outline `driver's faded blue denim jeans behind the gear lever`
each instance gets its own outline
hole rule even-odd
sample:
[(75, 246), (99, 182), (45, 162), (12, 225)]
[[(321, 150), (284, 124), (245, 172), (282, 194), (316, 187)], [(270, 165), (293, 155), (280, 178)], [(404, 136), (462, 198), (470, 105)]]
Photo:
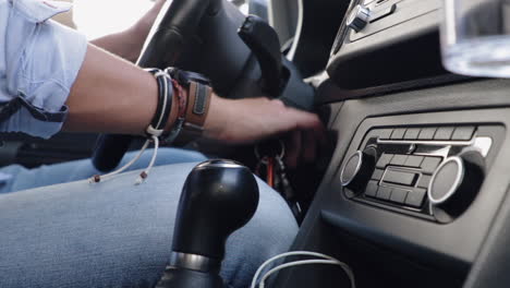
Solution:
[[(141, 185), (133, 184), (136, 171), (98, 184), (74, 181), (96, 173), (89, 160), (0, 169), (16, 172), (0, 191), (0, 287), (153, 287), (170, 256), (184, 180), (205, 159), (160, 153), (158, 165), (181, 164), (155, 167)], [(134, 169), (145, 167), (148, 154)], [(287, 251), (298, 231), (284, 201), (257, 181), (255, 216), (227, 241), (221, 276), (229, 287), (247, 287), (258, 265)]]

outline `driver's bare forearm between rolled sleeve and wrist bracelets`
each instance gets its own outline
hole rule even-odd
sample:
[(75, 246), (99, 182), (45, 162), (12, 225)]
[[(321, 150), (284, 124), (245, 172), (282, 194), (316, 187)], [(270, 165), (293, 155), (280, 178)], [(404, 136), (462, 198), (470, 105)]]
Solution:
[(158, 99), (150, 73), (93, 45), (66, 100), (64, 130), (142, 134)]

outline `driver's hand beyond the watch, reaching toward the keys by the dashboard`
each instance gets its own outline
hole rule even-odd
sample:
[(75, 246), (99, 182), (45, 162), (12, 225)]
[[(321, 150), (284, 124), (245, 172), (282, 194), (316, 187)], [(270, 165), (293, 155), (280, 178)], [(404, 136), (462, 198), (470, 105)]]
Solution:
[(229, 144), (251, 144), (284, 135), (289, 140), (286, 160), (290, 167), (296, 167), (300, 158), (313, 161), (318, 145), (326, 143), (316, 115), (264, 97), (232, 100), (212, 96), (204, 133)]

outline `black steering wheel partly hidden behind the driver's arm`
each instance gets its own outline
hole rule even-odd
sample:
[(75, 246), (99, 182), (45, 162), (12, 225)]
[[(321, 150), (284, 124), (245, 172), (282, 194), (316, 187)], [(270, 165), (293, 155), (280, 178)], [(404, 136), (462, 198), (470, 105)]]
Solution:
[[(260, 96), (260, 69), (252, 50), (238, 36), (244, 20), (245, 15), (227, 0), (167, 0), (137, 65), (179, 67), (202, 73), (223, 97)], [(283, 101), (309, 109), (313, 89), (302, 82), (301, 74), (289, 61), (283, 62), (290, 72), (281, 93)], [(93, 156), (95, 167), (100, 171), (114, 169), (132, 140), (132, 135), (100, 135)]]

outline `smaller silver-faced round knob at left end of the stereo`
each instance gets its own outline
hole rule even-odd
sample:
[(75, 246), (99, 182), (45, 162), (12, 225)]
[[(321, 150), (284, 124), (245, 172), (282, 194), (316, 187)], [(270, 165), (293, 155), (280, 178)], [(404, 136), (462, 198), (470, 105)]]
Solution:
[(366, 148), (365, 151), (356, 151), (342, 167), (340, 173), (340, 183), (347, 187), (352, 192), (361, 192), (368, 183), (375, 168), (375, 148)]

